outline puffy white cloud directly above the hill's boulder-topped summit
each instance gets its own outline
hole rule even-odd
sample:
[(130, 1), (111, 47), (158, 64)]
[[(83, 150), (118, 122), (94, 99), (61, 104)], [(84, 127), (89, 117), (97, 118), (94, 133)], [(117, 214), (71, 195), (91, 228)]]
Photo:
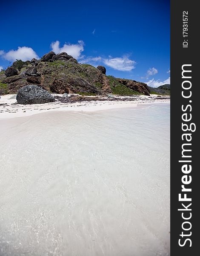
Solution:
[(67, 52), (69, 55), (73, 56), (74, 58), (79, 58), (81, 52), (84, 50), (84, 42), (79, 40), (77, 44), (64, 44), (63, 47), (60, 47), (60, 42), (52, 42), (51, 48), (57, 54), (60, 52)]

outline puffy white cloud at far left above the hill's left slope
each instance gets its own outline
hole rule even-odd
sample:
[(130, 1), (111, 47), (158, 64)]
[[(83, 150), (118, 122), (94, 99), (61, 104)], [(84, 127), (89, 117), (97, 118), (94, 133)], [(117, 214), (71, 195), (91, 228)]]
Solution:
[[(1, 51), (3, 52), (3, 51)], [(30, 47), (18, 47), (17, 50), (10, 50), (9, 52), (3, 52), (1, 53), (3, 58), (5, 58), (7, 61), (15, 61), (22, 60), (22, 61), (30, 61), (32, 58), (39, 58), (34, 52), (34, 50)]]

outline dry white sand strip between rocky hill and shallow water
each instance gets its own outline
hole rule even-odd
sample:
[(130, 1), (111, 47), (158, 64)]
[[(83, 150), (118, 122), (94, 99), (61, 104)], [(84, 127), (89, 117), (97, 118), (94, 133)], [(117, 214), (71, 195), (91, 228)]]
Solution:
[[(62, 96), (60, 94), (53, 94)], [(0, 99), (0, 119), (9, 119), (14, 117), (30, 116), (37, 113), (49, 112), (49, 111), (102, 111), (114, 108), (127, 108), (136, 107), (138, 104), (148, 103), (162, 103), (169, 102), (169, 96), (157, 97), (157, 95), (151, 96), (129, 96), (134, 99), (133, 101), (92, 101), (92, 102), (76, 102), (76, 103), (61, 103), (52, 102), (45, 104), (34, 105), (20, 105), (17, 104), (16, 95), (8, 94), (1, 96)], [(14, 98), (14, 99), (13, 99)], [(124, 97), (121, 96), (123, 99)]]

